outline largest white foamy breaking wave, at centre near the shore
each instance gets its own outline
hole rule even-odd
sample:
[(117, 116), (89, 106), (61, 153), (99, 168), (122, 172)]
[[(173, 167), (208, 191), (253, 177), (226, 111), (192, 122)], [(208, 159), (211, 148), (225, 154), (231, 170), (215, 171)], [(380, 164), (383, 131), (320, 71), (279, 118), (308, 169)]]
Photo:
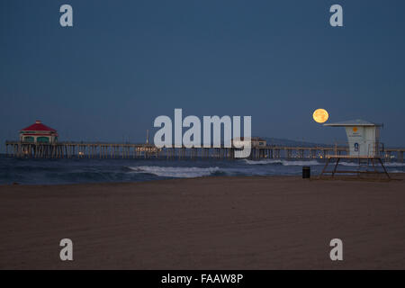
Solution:
[(148, 173), (162, 177), (194, 178), (208, 176), (220, 171), (219, 167), (169, 167), (169, 166), (131, 166), (135, 173)]

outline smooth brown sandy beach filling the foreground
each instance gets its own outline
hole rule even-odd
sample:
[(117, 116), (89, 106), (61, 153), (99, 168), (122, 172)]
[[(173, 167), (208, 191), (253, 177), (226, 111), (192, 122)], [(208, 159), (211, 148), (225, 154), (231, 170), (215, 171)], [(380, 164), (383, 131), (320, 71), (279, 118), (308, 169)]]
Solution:
[[(1, 269), (404, 269), (405, 181), (0, 186)], [(59, 259), (71, 238), (74, 261)], [(329, 241), (341, 238), (344, 260)]]

